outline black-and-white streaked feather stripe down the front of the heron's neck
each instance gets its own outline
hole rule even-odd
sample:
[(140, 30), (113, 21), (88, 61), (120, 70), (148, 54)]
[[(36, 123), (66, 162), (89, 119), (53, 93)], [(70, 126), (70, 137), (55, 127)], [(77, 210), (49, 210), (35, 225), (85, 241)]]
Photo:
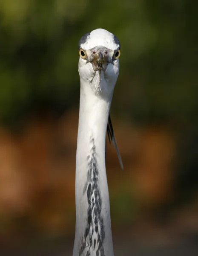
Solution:
[[(98, 163), (96, 158), (96, 148), (93, 138), (90, 138), (90, 144), (92, 145), (91, 154), (87, 157), (88, 172), (87, 182), (84, 186), (84, 194), (86, 192), (88, 209), (87, 209), (87, 224), (84, 232), (82, 243), (80, 246), (79, 256), (82, 255), (84, 250), (86, 256), (90, 256), (90, 249), (95, 251), (96, 256), (105, 256), (103, 242), (105, 239), (105, 229), (103, 224), (103, 217), (101, 215), (102, 200), (100, 196), (100, 187), (98, 180)], [(99, 228), (98, 228), (99, 227)]]

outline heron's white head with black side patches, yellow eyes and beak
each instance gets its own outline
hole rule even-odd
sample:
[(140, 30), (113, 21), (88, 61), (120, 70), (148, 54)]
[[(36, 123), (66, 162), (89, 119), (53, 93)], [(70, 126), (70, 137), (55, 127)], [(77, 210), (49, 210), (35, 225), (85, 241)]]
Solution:
[(105, 29), (96, 29), (83, 35), (79, 41), (80, 77), (92, 81), (95, 76), (115, 81), (119, 73), (120, 42)]

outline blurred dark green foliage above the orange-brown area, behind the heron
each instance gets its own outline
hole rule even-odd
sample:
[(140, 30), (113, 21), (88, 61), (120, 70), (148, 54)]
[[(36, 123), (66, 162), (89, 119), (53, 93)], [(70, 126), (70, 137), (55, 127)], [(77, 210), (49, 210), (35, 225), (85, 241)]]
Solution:
[(121, 41), (113, 111), (136, 120), (198, 110), (196, 0), (1, 0), (0, 119), (78, 104), (78, 41), (104, 28)]

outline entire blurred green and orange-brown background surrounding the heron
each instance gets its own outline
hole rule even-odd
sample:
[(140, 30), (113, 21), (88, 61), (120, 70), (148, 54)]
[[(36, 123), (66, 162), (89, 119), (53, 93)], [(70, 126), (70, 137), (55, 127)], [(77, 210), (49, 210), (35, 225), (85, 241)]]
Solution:
[(121, 41), (115, 256), (198, 255), (198, 2), (0, 0), (0, 255), (72, 255), (78, 41)]

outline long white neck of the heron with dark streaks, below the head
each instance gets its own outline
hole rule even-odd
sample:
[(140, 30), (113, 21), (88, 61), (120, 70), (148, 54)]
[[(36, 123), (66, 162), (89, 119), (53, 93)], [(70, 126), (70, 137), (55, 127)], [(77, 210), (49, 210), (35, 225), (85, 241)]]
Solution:
[(113, 256), (105, 167), (112, 92), (104, 99), (81, 80), (76, 154), (76, 233), (73, 256)]

